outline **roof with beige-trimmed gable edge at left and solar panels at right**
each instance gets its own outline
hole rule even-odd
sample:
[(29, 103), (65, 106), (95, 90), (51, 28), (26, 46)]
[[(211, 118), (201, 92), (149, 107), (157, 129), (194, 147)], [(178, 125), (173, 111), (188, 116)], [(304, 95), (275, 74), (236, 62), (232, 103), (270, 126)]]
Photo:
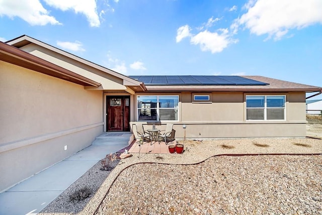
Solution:
[[(306, 84), (294, 83), (289, 81), (268, 78), (264, 76), (202, 76), (202, 75), (159, 75), (159, 76), (125, 76), (113, 70), (77, 57), (73, 54), (50, 46), (34, 38), (23, 35), (7, 42), (9, 45), (17, 48), (28, 44), (36, 44), (50, 51), (56, 52), (68, 59), (77, 61), (86, 67), (91, 67), (109, 75), (119, 78), (126, 91), (247, 91), (247, 92), (288, 92), (288, 91), (305, 91), (305, 92), (322, 92), (322, 87), (311, 86)], [(28, 54), (28, 53), (27, 53)], [(39, 58), (40, 59), (40, 58)], [(38, 59), (38, 60), (39, 60)], [(45, 61), (49, 63), (48, 61)], [(54, 64), (52, 64), (54, 65)], [(57, 66), (57, 65), (55, 65)], [(59, 67), (59, 66), (57, 66)], [(61, 68), (60, 69), (64, 69)], [(65, 69), (65, 71), (68, 71)], [(74, 71), (74, 70), (72, 70)], [(69, 71), (70, 72), (70, 71)], [(76, 71), (74, 71), (76, 72)], [(89, 72), (91, 72), (89, 70)], [(74, 73), (76, 74), (76, 73)], [(91, 78), (88, 76), (88, 78)], [(133, 79), (135, 78), (135, 79)], [(96, 80), (96, 79), (93, 79)], [(107, 78), (106, 78), (107, 80)], [(102, 81), (105, 81), (102, 80)], [(103, 82), (102, 82), (103, 85)], [(108, 84), (105, 84), (109, 87)], [(103, 89), (105, 89), (103, 87)]]

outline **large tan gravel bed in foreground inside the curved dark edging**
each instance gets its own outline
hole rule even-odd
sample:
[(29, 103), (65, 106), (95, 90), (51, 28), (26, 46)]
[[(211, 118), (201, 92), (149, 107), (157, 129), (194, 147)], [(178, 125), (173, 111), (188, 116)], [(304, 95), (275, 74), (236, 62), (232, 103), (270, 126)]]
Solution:
[(97, 214), (192, 213), (321, 214), (322, 156), (137, 164), (119, 175)]

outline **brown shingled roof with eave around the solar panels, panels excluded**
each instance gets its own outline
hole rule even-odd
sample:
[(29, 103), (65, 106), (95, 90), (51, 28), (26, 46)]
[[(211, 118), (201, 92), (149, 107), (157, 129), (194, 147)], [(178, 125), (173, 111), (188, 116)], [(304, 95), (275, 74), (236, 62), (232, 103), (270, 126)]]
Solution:
[(262, 85), (260, 84), (258, 85), (237, 85), (237, 84), (148, 85), (147, 84), (146, 88), (148, 91), (248, 91), (248, 92), (287, 92), (287, 91), (318, 92), (318, 91), (322, 91), (322, 87), (294, 83), (294, 82), (289, 82), (289, 81), (284, 81), (284, 80), (279, 80), (279, 79), (274, 79), (274, 78), (269, 78), (264, 76), (239, 76), (239, 77), (244, 77), (247, 79), (268, 83), (268, 84), (262, 84)]

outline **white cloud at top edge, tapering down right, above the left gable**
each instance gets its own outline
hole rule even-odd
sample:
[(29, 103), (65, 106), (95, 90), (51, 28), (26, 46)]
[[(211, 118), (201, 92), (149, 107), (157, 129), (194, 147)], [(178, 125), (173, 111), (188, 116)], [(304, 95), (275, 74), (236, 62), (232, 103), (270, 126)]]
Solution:
[(95, 0), (44, 0), (49, 6), (62, 11), (73, 10), (76, 14), (81, 13), (87, 17), (91, 27), (99, 27), (101, 25), (97, 14), (97, 6)]

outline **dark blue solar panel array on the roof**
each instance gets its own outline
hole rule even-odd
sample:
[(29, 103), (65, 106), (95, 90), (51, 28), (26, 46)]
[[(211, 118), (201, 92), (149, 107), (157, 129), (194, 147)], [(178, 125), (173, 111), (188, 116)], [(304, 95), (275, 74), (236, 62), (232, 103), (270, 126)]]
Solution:
[(145, 85), (268, 85), (261, 81), (232, 75), (132, 75)]

